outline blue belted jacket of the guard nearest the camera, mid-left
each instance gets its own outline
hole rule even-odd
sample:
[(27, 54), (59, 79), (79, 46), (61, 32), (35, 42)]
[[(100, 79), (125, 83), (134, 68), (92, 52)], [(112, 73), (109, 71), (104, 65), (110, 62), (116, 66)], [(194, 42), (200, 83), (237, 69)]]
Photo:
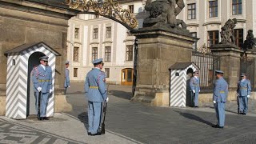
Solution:
[(104, 102), (107, 98), (105, 73), (98, 68), (93, 68), (86, 75), (86, 97), (90, 102)]

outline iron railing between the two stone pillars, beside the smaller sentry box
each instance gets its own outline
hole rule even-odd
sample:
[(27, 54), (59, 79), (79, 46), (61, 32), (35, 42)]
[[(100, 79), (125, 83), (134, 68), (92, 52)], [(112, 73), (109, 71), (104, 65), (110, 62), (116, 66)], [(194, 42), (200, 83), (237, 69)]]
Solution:
[(198, 51), (192, 52), (191, 62), (199, 67), (200, 87), (211, 89), (214, 86), (214, 71), (219, 70), (219, 57), (214, 54), (204, 54)]

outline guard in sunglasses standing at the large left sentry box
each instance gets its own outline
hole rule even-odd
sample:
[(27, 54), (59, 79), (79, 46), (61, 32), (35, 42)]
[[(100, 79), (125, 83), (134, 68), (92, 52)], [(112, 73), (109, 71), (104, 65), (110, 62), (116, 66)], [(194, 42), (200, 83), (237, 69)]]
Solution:
[(46, 118), (46, 107), (48, 105), (49, 94), (52, 93), (52, 70), (48, 66), (47, 56), (39, 58), (40, 65), (34, 66), (32, 70), (32, 81), (34, 83), (35, 107), (38, 111), (38, 95), (41, 91), (40, 118), (39, 120), (49, 120)]

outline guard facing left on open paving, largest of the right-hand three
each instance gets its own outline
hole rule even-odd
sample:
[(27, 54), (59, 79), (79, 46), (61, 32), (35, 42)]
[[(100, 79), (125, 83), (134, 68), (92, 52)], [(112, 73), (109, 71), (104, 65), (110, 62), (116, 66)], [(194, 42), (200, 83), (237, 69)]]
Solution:
[(215, 70), (216, 81), (214, 82), (214, 109), (218, 120), (215, 128), (224, 128), (225, 124), (225, 103), (228, 94), (228, 85), (223, 78), (224, 72), (222, 70)]

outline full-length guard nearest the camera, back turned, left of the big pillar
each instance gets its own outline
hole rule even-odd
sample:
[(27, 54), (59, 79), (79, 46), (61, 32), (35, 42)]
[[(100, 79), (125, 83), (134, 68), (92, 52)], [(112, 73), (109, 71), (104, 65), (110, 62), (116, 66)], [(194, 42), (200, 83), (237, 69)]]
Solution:
[(102, 102), (108, 102), (102, 58), (94, 60), (94, 68), (86, 75), (85, 91), (88, 99), (88, 135), (100, 135)]

